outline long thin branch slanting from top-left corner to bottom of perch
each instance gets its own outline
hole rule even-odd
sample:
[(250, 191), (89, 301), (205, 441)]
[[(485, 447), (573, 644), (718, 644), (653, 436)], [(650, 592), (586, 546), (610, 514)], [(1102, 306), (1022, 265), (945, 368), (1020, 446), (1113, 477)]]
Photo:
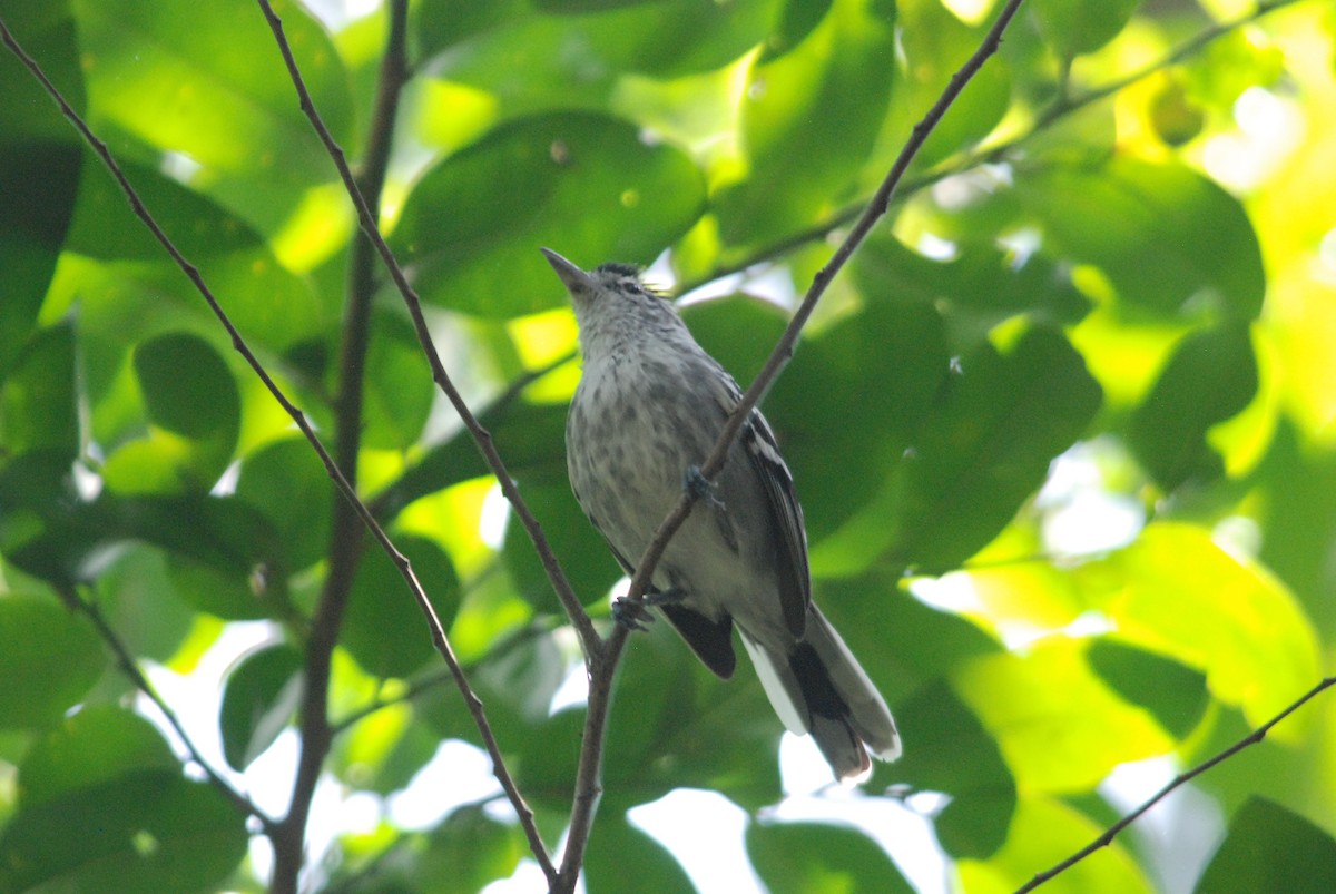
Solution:
[[(422, 613), (428, 617), (428, 624), (432, 628), (432, 643), (436, 647), (437, 652), (441, 653), (446, 664), (450, 667), (450, 672), (454, 675), (456, 684), (460, 687), (461, 691), (472, 694), (472, 690), (469, 690), (468, 680), (464, 676), (464, 671), (460, 667), (458, 659), (454, 656), (454, 652), (445, 637), (445, 631), (442, 629), (441, 621), (436, 615), (436, 608), (433, 608), (430, 600), (428, 600), (426, 593), (422, 589), (422, 585), (417, 580), (417, 575), (413, 572), (413, 567), (409, 564), (407, 559), (394, 547), (394, 543), (389, 539), (389, 535), (385, 533), (385, 529), (381, 528), (379, 524), (377, 524), (375, 517), (370, 513), (366, 505), (358, 498), (357, 492), (347, 482), (347, 478), (343, 477), (343, 473), (339, 470), (338, 465), (331, 458), (329, 450), (325, 449), (325, 445), (315, 434), (315, 430), (311, 428), (311, 424), (306, 418), (306, 414), (287, 398), (283, 390), (269, 374), (269, 370), (266, 370), (265, 366), (255, 357), (255, 353), (246, 343), (246, 339), (242, 337), (240, 331), (236, 329), (231, 318), (227, 315), (222, 305), (218, 302), (218, 298), (214, 295), (212, 290), (208, 287), (208, 283), (199, 273), (199, 269), (195, 265), (192, 265), (180, 253), (179, 249), (176, 249), (175, 243), (163, 231), (158, 220), (144, 206), (143, 200), (139, 198), (139, 192), (135, 190), (134, 184), (126, 176), (124, 171), (120, 168), (120, 164), (111, 155), (111, 151), (107, 148), (107, 144), (102, 139), (99, 139), (96, 134), (92, 132), (87, 122), (84, 122), (84, 119), (79, 115), (79, 112), (75, 111), (75, 108), (68, 103), (68, 100), (65, 100), (60, 90), (56, 88), (53, 83), (51, 83), (51, 79), (47, 78), (45, 72), (41, 71), (41, 67), (17, 43), (17, 40), (9, 32), (8, 27), (5, 27), (3, 20), (0, 20), (0, 41), (3, 41), (5, 47), (9, 48), (9, 51), (19, 59), (19, 61), (24, 64), (25, 68), (28, 68), (32, 76), (43, 86), (43, 88), (47, 91), (51, 99), (60, 108), (60, 112), (65, 116), (67, 120), (69, 120), (69, 123), (75, 127), (75, 130), (79, 131), (84, 142), (88, 143), (94, 154), (96, 154), (98, 158), (102, 160), (102, 163), (107, 167), (107, 170), (111, 172), (112, 178), (120, 187), (122, 192), (124, 194), (126, 200), (130, 203), (130, 207), (134, 211), (135, 216), (138, 216), (139, 220), (148, 229), (152, 237), (158, 241), (158, 243), (163, 247), (167, 255), (172, 259), (172, 262), (180, 269), (183, 274), (186, 274), (186, 278), (190, 279), (195, 290), (199, 291), (199, 294), (204, 298), (204, 302), (208, 305), (208, 309), (214, 313), (219, 323), (222, 323), (223, 329), (231, 338), (232, 349), (236, 350), (238, 354), (240, 354), (246, 365), (251, 367), (251, 371), (254, 371), (255, 376), (265, 385), (265, 389), (270, 393), (270, 396), (273, 396), (273, 398), (279, 404), (279, 406), (283, 408), (283, 412), (286, 412), (293, 418), (293, 422), (302, 432), (306, 440), (311, 444), (311, 448), (321, 458), (321, 462), (325, 465), (326, 473), (334, 481), (334, 485), (338, 488), (339, 493), (343, 494), (343, 497), (354, 506), (358, 517), (362, 520), (362, 524), (366, 525), (366, 528), (371, 532), (377, 543), (379, 543), (381, 548), (394, 563), (394, 567), (399, 571), (399, 575), (403, 577), (405, 581), (407, 581), (409, 588), (413, 591), (413, 597), (417, 600), (418, 607), (422, 609)], [(486, 715), (482, 710), (482, 703), (481, 700), (477, 699), (477, 696), (472, 698), (466, 696), (465, 702), (469, 707), (469, 711), (473, 714), (474, 722), (478, 726), (478, 731), (482, 735), (482, 740), (485, 747), (488, 748), (488, 752), (493, 755), (493, 760), (496, 762), (494, 771), (497, 779), (498, 782), (501, 782), (501, 787), (505, 790), (506, 796), (510, 799), (510, 803), (516, 807), (516, 811), (520, 814), (520, 821), (525, 826), (526, 831), (532, 830), (530, 833), (530, 841), (532, 841), (537, 835), (536, 827), (533, 825), (533, 811), (524, 802), (524, 798), (520, 796), (518, 788), (516, 787), (514, 780), (509, 775), (509, 771), (506, 770), (505, 764), (498, 760), (500, 747), (497, 746), (496, 738), (492, 734), (492, 727), (486, 720)], [(541, 846), (541, 839), (537, 841)], [(550, 866), (550, 859), (548, 859), (548, 865)]]

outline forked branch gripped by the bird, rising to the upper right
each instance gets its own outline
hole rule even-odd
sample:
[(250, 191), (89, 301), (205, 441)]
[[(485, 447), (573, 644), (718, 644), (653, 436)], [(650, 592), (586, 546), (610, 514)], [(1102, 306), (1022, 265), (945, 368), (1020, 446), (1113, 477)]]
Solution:
[[(970, 83), (970, 79), (978, 73), (978, 71), (983, 67), (983, 63), (987, 61), (989, 56), (997, 52), (1002, 43), (1002, 33), (1011, 23), (1011, 19), (1015, 17), (1022, 1), (1023, 0), (1007, 1), (1007, 4), (998, 13), (998, 17), (993, 23), (987, 35), (983, 37), (983, 41), (979, 44), (979, 48), (970, 56), (961, 69), (951, 76), (950, 83), (942, 91), (938, 100), (927, 111), (923, 119), (914, 126), (908, 140), (906, 140), (904, 147), (900, 150), (899, 156), (887, 172), (886, 179), (882, 180), (876, 192), (872, 194), (867, 207), (858, 218), (852, 230), (850, 230), (848, 235), (835, 250), (835, 254), (814, 277), (811, 287), (808, 287), (807, 294), (803, 297), (798, 311), (790, 321), (788, 327), (779, 339), (779, 343), (776, 343), (774, 351), (771, 351), (770, 359), (766, 361), (766, 365), (756, 376), (756, 380), (743, 396), (741, 402), (733, 410), (732, 416), (729, 416), (724, 429), (719, 433), (719, 440), (715, 442), (713, 450), (700, 466), (700, 472), (705, 478), (713, 478), (719, 474), (720, 469), (723, 469), (724, 462), (728, 458), (728, 452), (732, 448), (737, 433), (741, 430), (743, 422), (751, 414), (752, 409), (755, 409), (755, 406), (760, 402), (762, 397), (764, 397), (766, 392), (783, 370), (788, 359), (794, 355), (794, 345), (798, 342), (798, 335), (807, 323), (807, 319), (812, 315), (816, 302), (822, 299), (822, 295), (826, 294), (826, 289), (830, 286), (831, 281), (844, 267), (844, 263), (850, 259), (854, 251), (863, 243), (876, 222), (886, 214), (896, 186), (903, 179), (904, 171), (908, 170), (910, 163), (914, 160), (914, 156), (918, 155), (918, 151), (922, 148), (925, 140), (927, 140), (929, 135), (942, 120), (942, 116), (946, 115), (946, 111), (961, 95), (961, 91), (965, 90), (965, 86)], [(640, 557), (640, 561), (636, 563), (636, 573), (631, 579), (631, 587), (627, 591), (628, 599), (640, 600), (644, 597), (644, 593), (649, 588), (655, 568), (659, 565), (668, 541), (687, 520), (695, 501), (696, 496), (691, 490), (684, 489), (677, 505), (659, 525), (653, 539), (649, 541), (649, 547)], [(585, 715), (584, 747), (581, 750), (580, 764), (577, 767), (576, 795), (570, 810), (570, 830), (566, 834), (566, 850), (561, 859), (561, 878), (560, 885), (556, 887), (556, 890), (561, 893), (574, 890), (576, 879), (580, 874), (580, 866), (584, 862), (584, 849), (588, 845), (589, 831), (593, 827), (593, 819), (599, 808), (599, 799), (603, 794), (603, 747), (604, 732), (608, 722), (608, 710), (612, 704), (612, 679), (616, 672), (617, 660), (620, 659), (621, 651), (627, 644), (627, 636), (628, 628), (617, 625), (609, 635), (607, 645), (599, 660), (591, 661), (589, 702), (588, 714)]]

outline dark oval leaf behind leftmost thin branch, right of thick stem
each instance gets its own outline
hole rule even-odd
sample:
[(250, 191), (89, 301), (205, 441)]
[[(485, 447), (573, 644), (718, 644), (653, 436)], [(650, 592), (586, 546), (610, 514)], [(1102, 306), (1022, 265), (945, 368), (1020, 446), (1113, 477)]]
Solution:
[[(442, 627), (450, 629), (460, 608), (460, 579), (449, 556), (425, 537), (395, 537), (395, 547), (413, 563)], [(436, 653), (422, 609), (378, 544), (369, 541), (357, 567), (339, 643), (363, 671), (381, 678), (407, 676)]]

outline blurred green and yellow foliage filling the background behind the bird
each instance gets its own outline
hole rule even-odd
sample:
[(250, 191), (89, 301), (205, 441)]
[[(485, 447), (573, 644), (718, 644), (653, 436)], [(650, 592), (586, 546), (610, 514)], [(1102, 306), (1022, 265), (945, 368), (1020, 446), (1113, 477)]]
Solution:
[[(275, 5), (359, 159), (385, 11)], [(596, 616), (620, 572), (565, 482), (574, 365), (512, 388), (574, 350), (538, 247), (709, 286), (684, 315), (749, 381), (998, 5), (411, 4), (390, 242)], [(957, 890), (1015, 889), (1117, 815), (1100, 787), (1116, 768), (1190, 767), (1329, 669), (1336, 13), (1271, 5), (1157, 64), (1252, 7), (1027, 3), (767, 398), (816, 597), (906, 742), (858, 802), (930, 823)], [(255, 5), (0, 0), (0, 16), (331, 433), (354, 219)], [(262, 641), (226, 653), (216, 698), (174, 707), (207, 714), (191, 728), (228, 778), (274, 784), (253, 772), (295, 723), (337, 496), (9, 53), (0, 196), (0, 891), (258, 890), (254, 827), (183, 772), (71, 600), (95, 601), (155, 679), (262, 621)], [(553, 712), (578, 660), (565, 619), (389, 289), (370, 342), (362, 488), (554, 845), (584, 716), (564, 696)], [(370, 541), (334, 659), (326, 771), (345, 796), (409, 788), (438, 742), (477, 743)], [(858, 802), (826, 799), (838, 826), (772, 810), (780, 724), (749, 671), (716, 680), (657, 629), (617, 686), (588, 890), (689, 886), (680, 854), (628, 821), (681, 787), (748, 811), (745, 855), (771, 890), (922, 878), (912, 847), (887, 854), (840, 812)], [(1124, 835), (1045, 890), (1329, 887), (1333, 730), (1325, 696), (1198, 778), (1162, 846)], [(454, 782), (482, 794), (425, 830), (387, 812), (335, 830), (313, 853), (321, 878), (473, 891), (509, 877), (526, 853), (513, 818), (488, 779)]]

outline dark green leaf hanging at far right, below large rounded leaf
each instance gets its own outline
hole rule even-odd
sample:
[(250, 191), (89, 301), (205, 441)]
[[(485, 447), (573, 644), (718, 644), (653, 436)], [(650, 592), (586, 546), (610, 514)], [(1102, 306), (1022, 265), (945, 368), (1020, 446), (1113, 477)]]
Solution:
[(1188, 335), (1128, 422), (1128, 444), (1166, 490), (1224, 474), (1206, 445), (1217, 422), (1236, 416), (1257, 393), (1257, 359), (1248, 326)]

